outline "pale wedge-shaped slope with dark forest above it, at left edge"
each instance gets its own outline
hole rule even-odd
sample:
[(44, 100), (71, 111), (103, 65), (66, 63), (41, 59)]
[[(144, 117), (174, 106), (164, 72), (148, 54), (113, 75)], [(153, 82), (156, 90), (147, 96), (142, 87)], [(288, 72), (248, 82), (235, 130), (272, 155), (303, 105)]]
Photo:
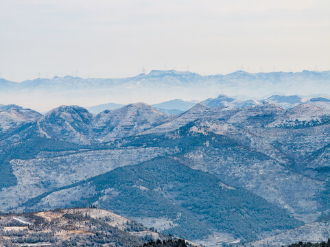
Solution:
[(51, 189), (174, 152), (172, 148), (114, 149), (43, 138), (29, 139), (4, 151), (0, 185), (5, 188), (0, 191), (0, 211)]

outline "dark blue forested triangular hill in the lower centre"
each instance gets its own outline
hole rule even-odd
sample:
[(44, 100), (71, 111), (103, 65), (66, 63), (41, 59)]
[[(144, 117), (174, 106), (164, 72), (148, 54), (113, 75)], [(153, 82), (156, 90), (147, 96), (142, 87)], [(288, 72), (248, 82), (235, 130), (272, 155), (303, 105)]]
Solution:
[(255, 239), (274, 229), (301, 224), (285, 210), (246, 189), (228, 187), (216, 176), (190, 169), (170, 158), (119, 167), (46, 193), (28, 201), (25, 207), (78, 206), (86, 200), (82, 195), (97, 207), (138, 221), (163, 222), (163, 232), (188, 239), (201, 239), (211, 231)]

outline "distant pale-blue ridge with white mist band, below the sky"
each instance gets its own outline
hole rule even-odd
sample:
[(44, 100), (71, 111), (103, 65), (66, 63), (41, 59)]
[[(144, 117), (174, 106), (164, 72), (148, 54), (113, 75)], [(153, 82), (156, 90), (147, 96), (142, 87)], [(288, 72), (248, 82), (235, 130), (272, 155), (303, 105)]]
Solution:
[[(245, 95), (252, 99), (270, 95), (274, 91), (285, 95), (310, 95), (329, 92), (329, 81), (330, 71), (236, 71), (227, 75), (200, 75), (170, 70), (151, 71), (148, 74), (117, 79), (84, 79), (67, 75), (62, 78), (37, 78), (19, 83), (1, 79), (0, 97), (1, 104), (19, 104), (45, 112), (58, 107), (59, 102), (66, 105), (96, 106), (107, 102), (158, 104), (172, 99), (202, 101), (220, 94)], [(122, 95), (126, 97), (123, 98)]]

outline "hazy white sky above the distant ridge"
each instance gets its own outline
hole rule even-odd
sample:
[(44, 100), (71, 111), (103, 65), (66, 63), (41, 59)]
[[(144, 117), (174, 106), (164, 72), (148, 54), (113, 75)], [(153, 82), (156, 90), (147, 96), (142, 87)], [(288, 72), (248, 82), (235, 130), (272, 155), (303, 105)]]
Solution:
[(0, 34), (14, 81), (330, 69), (329, 0), (0, 0)]

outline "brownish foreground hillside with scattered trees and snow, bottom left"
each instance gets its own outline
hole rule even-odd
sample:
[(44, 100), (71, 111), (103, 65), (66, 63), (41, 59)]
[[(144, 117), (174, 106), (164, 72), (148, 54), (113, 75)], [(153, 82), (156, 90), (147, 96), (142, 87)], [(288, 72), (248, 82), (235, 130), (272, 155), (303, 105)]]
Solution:
[(0, 246), (139, 246), (168, 239), (102, 209), (0, 215)]

